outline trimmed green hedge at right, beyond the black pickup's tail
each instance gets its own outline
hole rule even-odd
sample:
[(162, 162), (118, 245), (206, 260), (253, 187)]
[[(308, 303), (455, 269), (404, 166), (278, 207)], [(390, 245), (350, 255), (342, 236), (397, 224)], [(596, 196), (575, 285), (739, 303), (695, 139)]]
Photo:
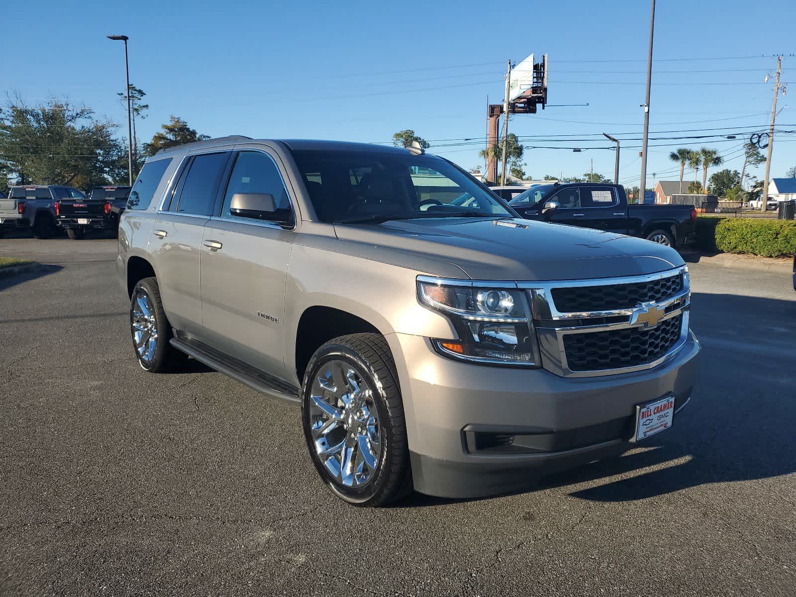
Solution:
[(696, 219), (696, 246), (704, 251), (792, 256), (796, 253), (796, 220), (700, 216)]

